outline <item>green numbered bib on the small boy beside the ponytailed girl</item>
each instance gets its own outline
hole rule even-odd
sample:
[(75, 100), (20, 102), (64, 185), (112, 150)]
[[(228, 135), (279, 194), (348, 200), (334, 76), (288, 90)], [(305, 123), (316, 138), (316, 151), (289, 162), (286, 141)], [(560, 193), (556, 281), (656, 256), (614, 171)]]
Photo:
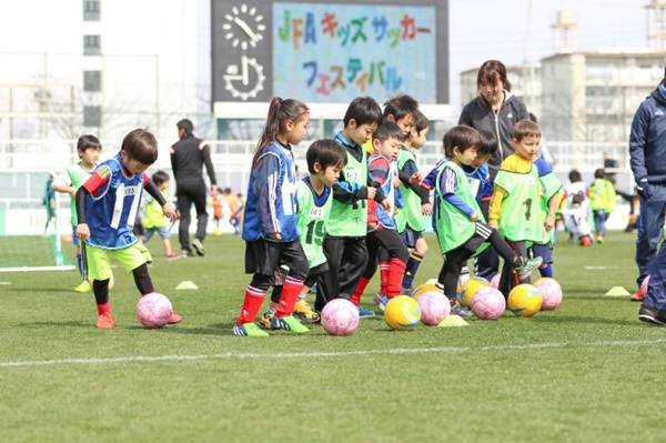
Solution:
[(317, 207), (314, 201), (314, 190), (303, 180), (296, 184), (296, 197), (299, 200), (299, 212), (296, 224), (301, 233), (301, 245), (307, 256), (310, 269), (326, 262), (323, 243), (326, 233), (326, 219), (331, 214), (333, 204), (333, 190), (322, 205)]

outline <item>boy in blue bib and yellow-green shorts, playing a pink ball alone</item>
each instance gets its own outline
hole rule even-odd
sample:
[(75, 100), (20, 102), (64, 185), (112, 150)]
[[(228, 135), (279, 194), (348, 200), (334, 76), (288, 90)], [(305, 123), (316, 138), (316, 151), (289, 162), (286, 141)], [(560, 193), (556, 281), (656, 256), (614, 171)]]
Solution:
[[(110, 255), (115, 256), (134, 275), (141, 295), (154, 292), (148, 273), (150, 252), (137, 241), (132, 224), (141, 203), (143, 189), (174, 221), (178, 213), (144, 171), (158, 160), (158, 141), (147, 130), (135, 129), (122, 141), (120, 152), (101, 163), (92, 177), (77, 191), (77, 236), (85, 242), (84, 259), (98, 308), (99, 329), (113, 329), (115, 319), (109, 305), (109, 281), (112, 276)], [(169, 323), (182, 320), (175, 312)]]

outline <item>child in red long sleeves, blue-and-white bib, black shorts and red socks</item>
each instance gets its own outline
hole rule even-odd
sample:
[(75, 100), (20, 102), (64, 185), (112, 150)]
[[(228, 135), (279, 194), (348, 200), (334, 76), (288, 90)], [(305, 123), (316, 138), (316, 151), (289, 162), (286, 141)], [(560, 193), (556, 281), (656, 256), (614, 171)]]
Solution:
[[(395, 225), (395, 192), (397, 178), (397, 157), (401, 150), (402, 130), (393, 122), (385, 121), (372, 137), (374, 154), (367, 160), (370, 177), (380, 183), (382, 192), (389, 201), (389, 208), (374, 201), (367, 204), (367, 251), (369, 260), (365, 272), (356, 286), (351, 302), (356, 306), (361, 295), (377, 270), (381, 269), (381, 291), (375, 295), (380, 308), (384, 309), (389, 300), (400, 295), (401, 283), (410, 258), (407, 246), (402, 242)], [(418, 174), (414, 180), (420, 181)], [(380, 250), (383, 252), (380, 254)]]

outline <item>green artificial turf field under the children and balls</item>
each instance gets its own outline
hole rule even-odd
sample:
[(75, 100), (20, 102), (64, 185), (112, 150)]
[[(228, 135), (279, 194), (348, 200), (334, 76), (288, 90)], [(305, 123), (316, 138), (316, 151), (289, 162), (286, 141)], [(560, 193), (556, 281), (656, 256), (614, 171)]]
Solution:
[[(427, 241), (417, 283), (441, 265)], [(149, 248), (155, 289), (184, 316), (163, 330), (139, 324), (120, 268), (112, 331), (95, 329), (92, 294), (72, 291), (75, 271), (0, 273), (1, 442), (666, 440), (666, 329), (639, 322), (628, 296), (604, 296), (634, 291), (635, 234), (557, 243), (554, 312), (412, 332), (380, 315), (347, 338), (232, 336), (244, 243), (209, 236), (204, 258), (174, 261)], [(176, 291), (186, 280), (199, 290)]]

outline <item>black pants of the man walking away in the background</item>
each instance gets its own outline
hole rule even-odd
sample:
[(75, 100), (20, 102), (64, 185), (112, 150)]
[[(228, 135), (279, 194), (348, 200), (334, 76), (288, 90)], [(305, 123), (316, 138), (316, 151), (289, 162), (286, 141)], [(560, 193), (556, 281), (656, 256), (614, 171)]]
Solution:
[(205, 183), (203, 180), (196, 182), (178, 182), (175, 194), (178, 197), (178, 210), (181, 213), (178, 228), (178, 239), (183, 251), (190, 249), (190, 211), (192, 203), (196, 210), (196, 239), (205, 238), (205, 225), (208, 224), (208, 212), (205, 211)]

